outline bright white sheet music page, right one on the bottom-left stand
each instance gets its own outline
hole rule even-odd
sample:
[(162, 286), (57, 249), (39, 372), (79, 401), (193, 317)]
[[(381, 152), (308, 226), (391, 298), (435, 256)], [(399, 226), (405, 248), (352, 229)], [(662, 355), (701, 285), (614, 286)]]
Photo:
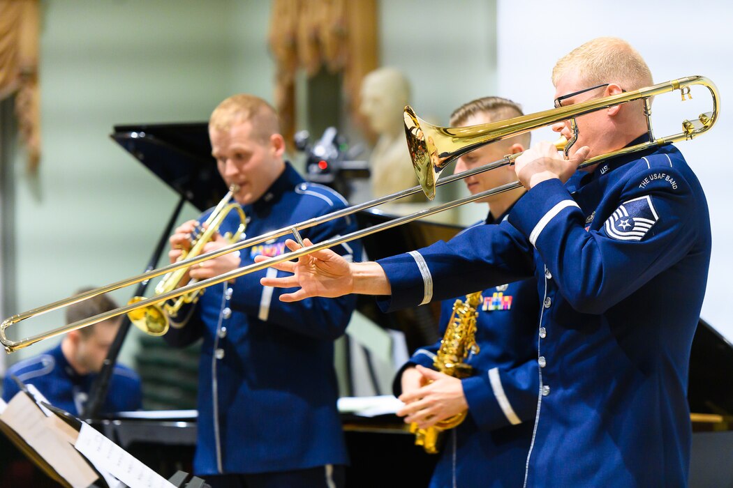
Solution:
[(175, 488), (166, 478), (155, 473), (89, 424), (81, 424), (74, 446), (97, 469), (108, 471), (130, 488)]

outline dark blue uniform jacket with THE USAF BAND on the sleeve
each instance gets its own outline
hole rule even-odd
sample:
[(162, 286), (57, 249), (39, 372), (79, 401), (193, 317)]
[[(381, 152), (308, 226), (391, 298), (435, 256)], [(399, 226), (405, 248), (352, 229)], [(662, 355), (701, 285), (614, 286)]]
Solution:
[(544, 367), (528, 486), (686, 486), (688, 361), (710, 260), (704, 193), (671, 145), (572, 181), (572, 195), (559, 180), (538, 184), (501, 225), (381, 260), (393, 295), (380, 303), (534, 274)]

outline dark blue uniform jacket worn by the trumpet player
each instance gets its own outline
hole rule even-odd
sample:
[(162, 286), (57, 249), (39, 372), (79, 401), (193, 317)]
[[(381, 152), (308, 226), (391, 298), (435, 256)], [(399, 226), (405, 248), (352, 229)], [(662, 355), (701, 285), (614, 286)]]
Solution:
[[(345, 206), (334, 190), (306, 183), (287, 165), (262, 198), (243, 206), (246, 233), (259, 236)], [(226, 219), (221, 233), (238, 224), (238, 218)], [(341, 218), (301, 236), (316, 243), (353, 230), (353, 220)], [(287, 252), (285, 239), (244, 249), (241, 266), (256, 255)], [(358, 242), (334, 251), (361, 260)], [(183, 329), (172, 328), (165, 336), (173, 345), (203, 337), (196, 473), (262, 473), (348, 461), (336, 410), (334, 339), (344, 334), (356, 297), (283, 303), (279, 296), (286, 290), (259, 284), (267, 273), (278, 271), (207, 288), (196, 306), (180, 311)]]

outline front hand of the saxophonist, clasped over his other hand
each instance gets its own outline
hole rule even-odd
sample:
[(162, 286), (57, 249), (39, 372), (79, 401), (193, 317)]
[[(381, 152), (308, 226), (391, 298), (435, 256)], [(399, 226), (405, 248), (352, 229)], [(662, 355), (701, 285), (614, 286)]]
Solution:
[(397, 410), (397, 416), (405, 417), (405, 424), (415, 422), (421, 429), (427, 429), (468, 410), (459, 378), (420, 365), (414, 370), (423, 377), (424, 386), (399, 395), (405, 406)]

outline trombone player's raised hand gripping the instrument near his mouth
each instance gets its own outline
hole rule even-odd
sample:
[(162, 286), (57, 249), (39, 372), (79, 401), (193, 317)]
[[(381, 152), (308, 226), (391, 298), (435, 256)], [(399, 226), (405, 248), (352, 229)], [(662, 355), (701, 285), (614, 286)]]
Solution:
[(553, 178), (559, 178), (564, 183), (586, 160), (589, 152), (590, 148), (583, 146), (569, 159), (565, 159), (553, 143), (542, 141), (517, 157), (514, 163), (517, 178), (526, 189)]

